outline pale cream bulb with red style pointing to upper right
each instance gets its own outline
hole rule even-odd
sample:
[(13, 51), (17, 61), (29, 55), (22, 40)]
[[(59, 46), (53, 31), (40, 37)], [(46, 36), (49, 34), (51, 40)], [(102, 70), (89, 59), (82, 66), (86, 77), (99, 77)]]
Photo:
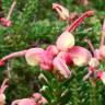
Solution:
[(74, 36), (71, 34), (73, 30), (88, 16), (93, 15), (93, 11), (88, 11), (83, 13), (78, 20), (75, 20), (67, 30), (57, 38), (57, 47), (60, 50), (68, 50), (74, 46)]

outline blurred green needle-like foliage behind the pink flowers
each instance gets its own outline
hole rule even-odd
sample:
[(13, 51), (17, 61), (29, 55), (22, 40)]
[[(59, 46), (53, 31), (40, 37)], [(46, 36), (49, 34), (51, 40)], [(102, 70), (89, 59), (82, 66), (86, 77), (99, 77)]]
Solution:
[[(55, 44), (68, 23), (60, 21), (52, 11), (54, 2), (61, 3), (71, 13), (95, 11), (95, 15), (86, 19), (73, 34), (77, 45), (89, 48), (83, 40), (86, 37), (92, 39), (95, 48), (98, 47), (105, 18), (105, 0), (89, 0), (88, 7), (84, 7), (81, 0), (16, 0), (16, 2), (11, 18), (13, 25), (9, 28), (0, 26), (0, 58), (13, 51), (35, 46), (45, 48), (49, 44)], [(2, 0), (5, 15), (11, 3), (12, 0)], [(8, 70), (10, 86), (5, 92), (7, 105), (15, 98), (28, 97), (34, 92), (42, 92), (48, 100), (48, 105), (105, 105), (103, 83), (82, 80), (88, 69), (73, 68), (71, 70), (74, 75), (71, 79), (58, 81), (50, 72), (42, 71), (38, 67), (30, 67), (24, 58), (14, 58), (5, 67), (0, 67), (0, 81), (7, 77)]]

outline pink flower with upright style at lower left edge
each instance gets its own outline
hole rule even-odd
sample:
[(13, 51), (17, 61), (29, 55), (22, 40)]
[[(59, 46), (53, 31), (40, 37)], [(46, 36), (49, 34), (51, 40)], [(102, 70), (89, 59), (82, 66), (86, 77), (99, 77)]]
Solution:
[(5, 79), (0, 88), (0, 105), (4, 105), (5, 104), (5, 95), (4, 95), (4, 91), (8, 88), (8, 79)]

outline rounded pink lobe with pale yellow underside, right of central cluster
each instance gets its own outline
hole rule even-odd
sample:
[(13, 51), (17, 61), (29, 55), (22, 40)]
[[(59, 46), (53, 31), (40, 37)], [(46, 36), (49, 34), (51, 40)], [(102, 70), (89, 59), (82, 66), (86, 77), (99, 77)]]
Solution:
[(69, 55), (71, 56), (73, 63), (79, 67), (88, 65), (92, 57), (88, 49), (80, 46), (70, 48)]

